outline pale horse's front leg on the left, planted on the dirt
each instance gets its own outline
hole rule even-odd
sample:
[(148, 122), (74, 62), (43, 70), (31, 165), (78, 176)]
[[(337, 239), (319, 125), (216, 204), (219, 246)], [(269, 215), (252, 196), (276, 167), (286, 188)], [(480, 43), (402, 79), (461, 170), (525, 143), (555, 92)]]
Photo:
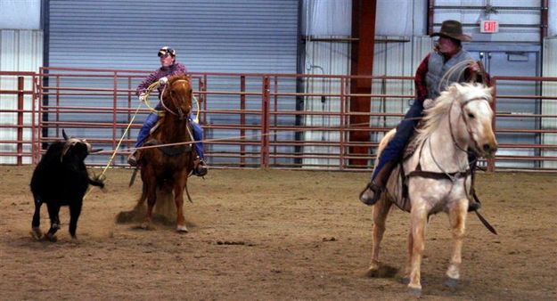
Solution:
[(410, 236), (412, 245), (408, 246), (410, 251), (410, 274), (408, 289), (416, 296), (422, 295), (422, 283), (420, 281), (420, 266), (422, 264), (423, 249), (425, 248), (425, 226), (427, 224), (427, 209), (422, 199), (412, 204), (410, 211), (411, 225)]

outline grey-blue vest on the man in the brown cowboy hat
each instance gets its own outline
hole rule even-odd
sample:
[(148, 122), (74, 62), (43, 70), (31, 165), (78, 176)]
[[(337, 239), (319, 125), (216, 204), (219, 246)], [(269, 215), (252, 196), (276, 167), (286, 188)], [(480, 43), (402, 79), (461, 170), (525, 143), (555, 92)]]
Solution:
[(428, 98), (436, 99), (440, 92), (445, 91), (447, 85), (451, 85), (455, 82), (462, 83), (464, 78), (464, 69), (467, 65), (462, 65), (458, 69), (451, 70), (451, 76), (444, 78), (443, 82), (440, 83), (441, 78), (446, 75), (446, 72), (453, 68), (460, 62), (472, 60), (470, 53), (461, 49), (460, 52), (456, 53), (450, 60), (444, 61), (443, 55), (433, 52), (430, 54), (430, 60), (428, 61), (428, 73), (425, 76), (425, 83), (428, 88)]

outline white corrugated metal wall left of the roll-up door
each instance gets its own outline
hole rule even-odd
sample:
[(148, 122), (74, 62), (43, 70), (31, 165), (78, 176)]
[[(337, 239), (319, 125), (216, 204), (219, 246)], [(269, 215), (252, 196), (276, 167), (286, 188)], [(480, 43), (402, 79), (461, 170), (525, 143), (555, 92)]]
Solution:
[[(38, 72), (43, 64), (43, 31), (29, 29), (0, 29), (0, 70), (2, 71), (31, 71)], [(0, 90), (17, 90), (17, 77), (0, 76)], [(33, 82), (31, 77), (24, 77), (24, 89), (31, 90)], [(0, 110), (17, 110), (17, 95), (0, 94)], [(32, 106), (31, 95), (24, 96), (24, 110)], [(23, 122), (29, 125), (30, 114), (23, 115)], [(16, 113), (0, 113), (0, 124), (17, 125)], [(30, 140), (29, 129), (23, 130), (23, 139)], [(17, 131), (10, 128), (0, 129), (0, 140), (16, 140)], [(27, 145), (29, 146), (29, 145)], [(16, 144), (0, 144), (2, 151), (17, 150)], [(29, 151), (29, 148), (24, 149)], [(0, 164), (13, 164), (16, 158), (0, 157)], [(30, 163), (29, 158), (24, 158), (23, 163)]]

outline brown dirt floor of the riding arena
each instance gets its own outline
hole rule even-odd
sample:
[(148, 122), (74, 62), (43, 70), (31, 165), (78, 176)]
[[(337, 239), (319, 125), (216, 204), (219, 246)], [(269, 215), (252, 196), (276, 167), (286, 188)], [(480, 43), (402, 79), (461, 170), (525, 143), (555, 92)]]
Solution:
[[(84, 202), (78, 240), (62, 208), (58, 241), (30, 232), (33, 167), (0, 166), (0, 300), (406, 300), (401, 284), (408, 215), (394, 208), (381, 261), (400, 270), (368, 278), (371, 207), (357, 200), (367, 173), (211, 170), (191, 178), (190, 232), (163, 218), (138, 229), (130, 210), (141, 181), (107, 172)], [(97, 171), (98, 173), (98, 171)], [(446, 215), (430, 221), (424, 300), (556, 300), (557, 175), (480, 174), (481, 212), (470, 214), (462, 281), (443, 285), (452, 248)], [(124, 213), (124, 214), (122, 214)], [(45, 207), (42, 229), (49, 226)]]

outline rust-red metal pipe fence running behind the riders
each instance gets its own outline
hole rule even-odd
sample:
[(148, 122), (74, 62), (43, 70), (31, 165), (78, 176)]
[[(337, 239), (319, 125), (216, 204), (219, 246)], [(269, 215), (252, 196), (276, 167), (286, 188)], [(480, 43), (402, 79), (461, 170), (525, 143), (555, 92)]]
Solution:
[[(1, 163), (37, 163), (47, 143), (61, 139), (63, 128), (105, 150), (87, 158), (89, 165), (106, 165), (122, 139), (111, 166), (127, 166), (127, 154), (150, 112), (135, 95), (135, 87), (147, 74), (62, 68), (43, 68), (37, 74), (0, 72)], [(381, 137), (397, 126), (414, 98), (413, 77), (195, 72), (190, 76), (200, 102), (203, 142), (211, 167), (369, 171)], [(355, 78), (370, 80), (372, 94), (350, 94)], [(481, 165), (488, 170), (557, 170), (557, 95), (552, 94), (557, 89), (540, 90), (538, 95), (497, 94), (497, 85), (503, 81), (557, 85), (554, 77), (493, 78), (496, 134), (519, 138), (502, 143), (504, 151)], [(370, 112), (350, 110), (349, 100), (356, 96), (369, 97)], [(539, 110), (498, 111), (497, 102), (508, 99), (537, 102)], [(152, 106), (158, 102), (156, 95), (150, 100)], [(131, 122), (135, 110), (138, 114)], [(350, 123), (354, 116), (369, 121)], [(501, 118), (516, 119), (516, 126), (497, 127)], [(520, 126), (525, 118), (535, 120), (536, 126)], [(369, 139), (350, 141), (351, 132), (365, 133)], [(521, 135), (534, 138), (523, 142)], [(368, 151), (355, 151), (361, 147)], [(355, 165), (354, 159), (367, 164)], [(521, 164), (527, 161), (534, 163)]]

